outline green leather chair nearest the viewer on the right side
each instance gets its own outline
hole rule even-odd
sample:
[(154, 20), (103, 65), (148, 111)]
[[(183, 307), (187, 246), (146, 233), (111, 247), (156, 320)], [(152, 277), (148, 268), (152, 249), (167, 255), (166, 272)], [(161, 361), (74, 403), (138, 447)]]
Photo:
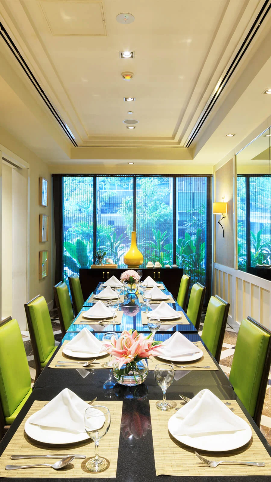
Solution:
[(239, 328), (229, 379), (258, 427), (270, 364), (271, 331), (247, 317)]

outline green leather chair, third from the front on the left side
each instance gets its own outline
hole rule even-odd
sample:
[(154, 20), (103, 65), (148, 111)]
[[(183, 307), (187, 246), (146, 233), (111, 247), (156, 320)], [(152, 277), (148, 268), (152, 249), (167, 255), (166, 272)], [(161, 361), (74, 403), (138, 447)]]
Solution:
[(66, 283), (60, 281), (54, 286), (54, 299), (59, 317), (61, 333), (62, 336), (65, 336), (74, 318), (68, 286)]

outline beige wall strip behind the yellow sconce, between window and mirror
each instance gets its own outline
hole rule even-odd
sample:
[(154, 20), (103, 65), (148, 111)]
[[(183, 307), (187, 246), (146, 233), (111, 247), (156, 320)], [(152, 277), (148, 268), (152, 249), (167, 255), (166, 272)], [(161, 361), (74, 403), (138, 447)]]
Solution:
[(221, 221), (225, 231), (223, 238), (222, 229), (217, 223), (221, 216), (215, 215), (215, 261), (229, 268), (234, 268), (234, 235), (233, 235), (233, 161), (226, 162), (215, 171), (215, 199), (222, 201), (225, 196), (227, 202), (226, 218)]

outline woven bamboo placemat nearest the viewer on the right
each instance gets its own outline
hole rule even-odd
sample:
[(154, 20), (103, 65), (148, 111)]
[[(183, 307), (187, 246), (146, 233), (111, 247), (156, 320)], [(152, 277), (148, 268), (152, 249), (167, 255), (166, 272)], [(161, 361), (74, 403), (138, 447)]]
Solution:
[[(243, 418), (248, 424), (245, 415), (236, 401), (232, 401), (235, 415)], [(176, 401), (179, 406), (179, 400)], [(185, 476), (245, 476), (245, 475), (270, 475), (271, 457), (259, 440), (256, 432), (252, 428), (252, 438), (244, 447), (230, 452), (203, 452), (196, 450), (209, 460), (244, 460), (244, 461), (263, 461), (265, 467), (253, 467), (244, 465), (219, 465), (217, 468), (208, 467), (203, 464), (194, 454), (193, 448), (178, 442), (168, 431), (167, 423), (169, 418), (174, 415), (175, 408), (169, 412), (161, 412), (156, 408), (156, 400), (149, 401), (150, 419), (152, 428), (152, 440), (154, 450), (154, 461), (156, 475)], [(226, 479), (225, 479), (226, 480)]]

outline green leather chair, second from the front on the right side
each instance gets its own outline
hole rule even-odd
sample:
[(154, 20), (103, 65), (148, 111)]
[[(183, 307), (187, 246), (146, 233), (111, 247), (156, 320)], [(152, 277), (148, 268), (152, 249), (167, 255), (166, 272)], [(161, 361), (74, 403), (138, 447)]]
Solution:
[(203, 324), (202, 340), (219, 363), (230, 303), (211, 296)]

